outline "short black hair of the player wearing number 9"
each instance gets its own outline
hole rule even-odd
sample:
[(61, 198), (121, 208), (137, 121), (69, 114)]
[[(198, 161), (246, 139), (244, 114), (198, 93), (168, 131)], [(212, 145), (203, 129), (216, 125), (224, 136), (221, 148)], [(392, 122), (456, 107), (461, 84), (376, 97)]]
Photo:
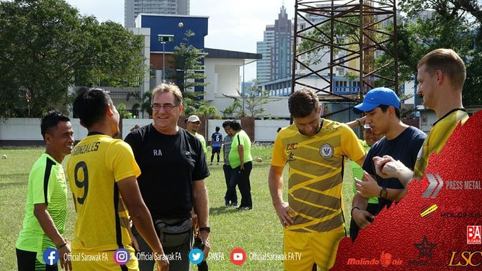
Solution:
[(109, 92), (83, 87), (74, 100), (74, 114), (89, 129), (105, 118), (105, 107), (109, 105), (112, 105)]

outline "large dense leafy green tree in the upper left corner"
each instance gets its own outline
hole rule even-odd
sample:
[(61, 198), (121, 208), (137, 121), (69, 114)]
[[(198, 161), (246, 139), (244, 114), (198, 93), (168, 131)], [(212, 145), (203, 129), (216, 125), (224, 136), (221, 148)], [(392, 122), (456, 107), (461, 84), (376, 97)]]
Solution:
[(136, 85), (142, 38), (63, 0), (0, 2), (0, 116), (67, 111), (70, 85)]

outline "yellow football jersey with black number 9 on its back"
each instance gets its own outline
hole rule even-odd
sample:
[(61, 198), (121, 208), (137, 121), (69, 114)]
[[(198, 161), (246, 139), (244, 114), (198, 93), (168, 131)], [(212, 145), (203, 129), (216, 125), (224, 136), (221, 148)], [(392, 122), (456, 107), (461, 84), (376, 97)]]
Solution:
[(67, 164), (77, 219), (72, 250), (116, 250), (131, 243), (129, 214), (116, 182), (140, 175), (129, 144), (108, 135), (89, 135)]

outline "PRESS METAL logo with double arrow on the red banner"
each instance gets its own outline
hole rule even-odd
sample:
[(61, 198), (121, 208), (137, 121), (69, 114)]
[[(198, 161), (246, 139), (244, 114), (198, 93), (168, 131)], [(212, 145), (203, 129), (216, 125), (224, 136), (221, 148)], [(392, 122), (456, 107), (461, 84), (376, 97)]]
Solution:
[(442, 177), (439, 174), (427, 174), (428, 187), (423, 193), (423, 198), (434, 199), (439, 195), (439, 192), (445, 184), (449, 190), (482, 190), (482, 184), (480, 180), (449, 180), (443, 182)]

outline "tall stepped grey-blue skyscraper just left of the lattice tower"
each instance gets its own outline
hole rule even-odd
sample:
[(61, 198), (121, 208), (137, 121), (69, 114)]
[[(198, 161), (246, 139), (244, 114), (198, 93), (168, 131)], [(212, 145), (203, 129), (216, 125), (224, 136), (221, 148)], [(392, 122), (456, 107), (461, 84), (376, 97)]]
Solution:
[(256, 63), (256, 77), (261, 81), (291, 76), (293, 29), (286, 8), (280, 8), (274, 25), (266, 25), (263, 41), (256, 43), (262, 59)]

